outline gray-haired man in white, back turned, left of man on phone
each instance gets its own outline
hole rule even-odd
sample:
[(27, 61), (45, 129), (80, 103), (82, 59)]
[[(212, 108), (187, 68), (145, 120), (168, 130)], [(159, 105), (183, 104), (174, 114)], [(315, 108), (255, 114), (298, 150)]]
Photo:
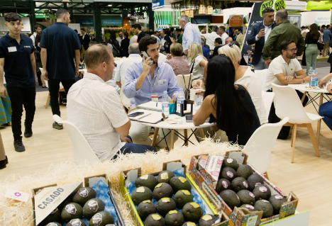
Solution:
[(126, 69), (134, 62), (142, 62), (142, 57), (140, 57), (140, 50), (138, 49), (138, 43), (133, 43), (128, 47), (129, 57), (120, 60), (117, 63), (115, 81), (118, 87), (121, 88), (121, 81), (126, 77)]

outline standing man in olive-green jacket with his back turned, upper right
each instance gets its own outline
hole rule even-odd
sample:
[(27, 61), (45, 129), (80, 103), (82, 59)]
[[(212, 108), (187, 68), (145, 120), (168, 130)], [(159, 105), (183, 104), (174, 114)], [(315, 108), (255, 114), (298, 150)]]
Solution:
[(271, 31), (265, 42), (262, 58), (268, 67), (275, 57), (280, 55), (280, 45), (284, 40), (294, 40), (297, 45), (297, 56), (301, 56), (304, 50), (304, 38), (301, 30), (288, 21), (286, 9), (280, 9), (275, 15), (277, 26)]

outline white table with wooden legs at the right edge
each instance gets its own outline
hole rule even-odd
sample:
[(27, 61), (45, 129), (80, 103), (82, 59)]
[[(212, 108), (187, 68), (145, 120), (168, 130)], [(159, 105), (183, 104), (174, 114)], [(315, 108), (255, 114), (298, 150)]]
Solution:
[[(316, 109), (317, 113), (319, 113), (319, 109), (316, 108), (315, 104), (319, 107), (323, 103), (323, 98), (326, 99), (326, 101), (332, 101), (330, 96), (324, 94), (329, 94), (329, 92), (326, 89), (306, 89), (306, 86), (309, 86), (309, 84), (289, 84), (288, 86), (292, 87), (293, 89), (297, 89), (299, 91), (304, 92), (304, 95), (301, 99), (301, 102), (303, 103), (304, 98), (306, 95), (309, 97), (308, 103), (306, 105), (309, 105), (310, 103), (313, 104), (314, 108)], [(309, 92), (315, 93), (315, 96), (311, 96)], [(319, 103), (316, 102), (316, 99), (319, 98)], [(316, 135), (316, 142), (317, 145), (319, 145), (319, 138), (321, 137), (321, 120), (317, 122), (317, 135)]]

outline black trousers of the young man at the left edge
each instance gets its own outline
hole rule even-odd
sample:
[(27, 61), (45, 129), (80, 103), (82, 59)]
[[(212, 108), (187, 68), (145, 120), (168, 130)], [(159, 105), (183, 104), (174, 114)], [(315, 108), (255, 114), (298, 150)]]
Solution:
[(26, 127), (31, 128), (35, 116), (35, 87), (7, 87), (11, 98), (11, 130), (14, 140), (22, 140), (21, 118), (23, 106), (26, 110)]

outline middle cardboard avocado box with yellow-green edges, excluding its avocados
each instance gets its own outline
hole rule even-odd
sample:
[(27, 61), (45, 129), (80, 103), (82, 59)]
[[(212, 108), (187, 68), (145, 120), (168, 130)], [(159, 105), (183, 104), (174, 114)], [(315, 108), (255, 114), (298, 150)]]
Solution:
[[(192, 186), (191, 191), (192, 193), (195, 193), (195, 196), (198, 196), (201, 198), (202, 203), (204, 205), (206, 214), (211, 214), (216, 217), (218, 217), (218, 222), (214, 224), (214, 226), (227, 226), (229, 218), (227, 215), (218, 215), (218, 212), (214, 209), (214, 207), (209, 203), (209, 200), (201, 193), (197, 185), (192, 181), (189, 174), (187, 174), (187, 167), (180, 161), (173, 161), (173, 162), (165, 162), (162, 164), (162, 171), (169, 170), (169, 171), (181, 171), (182, 174), (186, 175), (187, 180), (189, 181), (190, 185)], [(158, 176), (160, 172), (155, 172), (153, 174), (150, 174), (152, 176)], [(138, 210), (135, 207), (135, 204), (133, 203), (133, 200), (131, 199), (130, 192), (128, 191), (129, 187), (131, 186), (132, 182), (135, 182), (136, 179), (147, 177), (145, 175), (142, 175), (141, 168), (137, 169), (131, 169), (127, 171), (122, 171), (120, 174), (120, 188), (121, 193), (123, 195), (123, 198), (126, 199), (126, 202), (128, 203), (128, 207), (131, 210), (131, 216), (133, 217), (133, 220), (135, 221), (135, 225), (137, 226), (144, 226), (143, 220), (140, 219), (140, 215), (138, 215)], [(184, 181), (185, 179), (182, 178)], [(183, 183), (183, 182), (182, 182)], [(158, 183), (159, 185), (160, 183)], [(158, 186), (157, 185), (157, 186)], [(128, 189), (127, 189), (128, 188)], [(157, 215), (159, 216), (159, 215)]]

